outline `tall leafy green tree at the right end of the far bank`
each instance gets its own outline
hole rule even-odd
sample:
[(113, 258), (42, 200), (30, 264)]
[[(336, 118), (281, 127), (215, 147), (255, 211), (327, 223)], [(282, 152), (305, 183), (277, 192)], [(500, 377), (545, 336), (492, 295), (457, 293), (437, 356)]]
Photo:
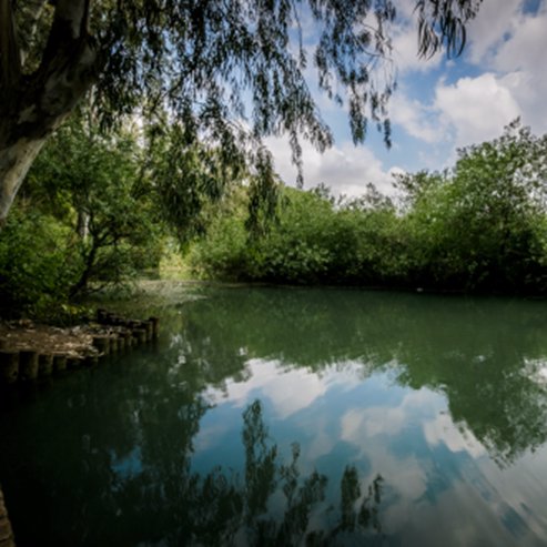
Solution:
[(453, 170), (398, 179), (422, 283), (545, 291), (547, 135), (518, 120), (458, 151)]

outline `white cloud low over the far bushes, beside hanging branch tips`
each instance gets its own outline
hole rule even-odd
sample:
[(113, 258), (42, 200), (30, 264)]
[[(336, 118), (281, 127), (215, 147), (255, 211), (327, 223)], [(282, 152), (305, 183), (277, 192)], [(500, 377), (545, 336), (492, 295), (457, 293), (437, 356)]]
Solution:
[[(282, 180), (287, 185), (294, 185), (296, 168), (291, 162), (288, 141), (271, 138), (266, 144)], [(325, 183), (335, 195), (357, 196), (363, 194), (366, 184), (372, 182), (381, 192), (393, 193), (392, 173), (401, 170), (396, 166), (385, 170), (382, 161), (366, 146), (354, 146), (353, 143), (346, 142), (321, 154), (312, 144), (303, 142), (302, 149), (306, 189)]]

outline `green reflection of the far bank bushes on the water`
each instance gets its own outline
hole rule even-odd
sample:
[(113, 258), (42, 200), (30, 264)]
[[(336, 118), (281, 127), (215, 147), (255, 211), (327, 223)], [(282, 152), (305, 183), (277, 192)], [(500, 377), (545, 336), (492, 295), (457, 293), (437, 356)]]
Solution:
[(398, 384), (443, 392), (454, 423), (498, 466), (547, 442), (547, 383), (534, 374), (547, 374), (541, 302), (298, 288), (211, 294), (185, 307), (183, 337), (209, 342), (189, 358), (233, 362), (245, 348), (247, 358), (317, 374), (359, 363), (363, 379), (396, 364)]

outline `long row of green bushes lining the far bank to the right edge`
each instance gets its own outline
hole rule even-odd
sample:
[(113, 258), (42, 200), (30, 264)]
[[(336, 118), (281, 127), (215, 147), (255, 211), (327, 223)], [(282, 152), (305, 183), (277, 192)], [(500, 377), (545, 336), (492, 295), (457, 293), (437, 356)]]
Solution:
[(214, 278), (544, 293), (547, 139), (518, 122), (459, 151), (453, 170), (398, 178), (398, 206), (374, 188), (353, 201), (285, 189), (260, 240), (243, 209), (196, 243), (194, 272)]

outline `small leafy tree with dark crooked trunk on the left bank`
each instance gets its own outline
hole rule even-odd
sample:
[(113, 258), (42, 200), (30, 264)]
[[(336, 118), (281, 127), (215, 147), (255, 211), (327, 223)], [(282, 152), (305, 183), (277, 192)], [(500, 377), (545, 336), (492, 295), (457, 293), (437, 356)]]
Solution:
[(160, 260), (163, 226), (136, 138), (135, 131), (105, 138), (80, 113), (54, 133), (29, 172), (21, 195), (70, 233), (58, 242), (73, 266), (72, 278), (64, 276), (68, 296), (90, 282), (124, 281)]

